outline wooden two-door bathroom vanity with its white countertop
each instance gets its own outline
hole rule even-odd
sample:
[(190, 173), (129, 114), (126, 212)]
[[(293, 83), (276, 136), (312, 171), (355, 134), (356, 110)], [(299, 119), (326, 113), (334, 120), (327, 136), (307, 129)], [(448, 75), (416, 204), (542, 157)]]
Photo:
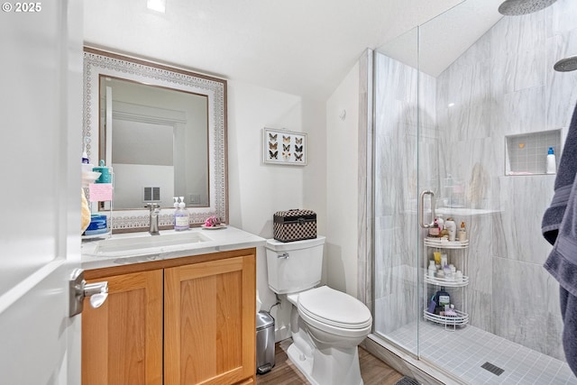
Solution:
[(118, 234), (83, 244), (82, 383), (255, 383), (258, 236), (234, 227)]

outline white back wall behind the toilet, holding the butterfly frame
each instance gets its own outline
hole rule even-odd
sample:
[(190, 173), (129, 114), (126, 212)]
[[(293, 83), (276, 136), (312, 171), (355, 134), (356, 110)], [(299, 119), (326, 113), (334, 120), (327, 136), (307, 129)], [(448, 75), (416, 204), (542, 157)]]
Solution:
[[(307, 166), (264, 164), (264, 127), (307, 133)], [(229, 81), (230, 225), (268, 239), (272, 238), (272, 215), (276, 211), (304, 207), (316, 211), (318, 231), (323, 234), (326, 191), (324, 131), (324, 103), (303, 101), (300, 96)], [(257, 289), (263, 308), (268, 310), (276, 298), (268, 287), (264, 248), (257, 251)], [(288, 325), (289, 308), (283, 304), (282, 309), (277, 307), (272, 311), (277, 329)]]

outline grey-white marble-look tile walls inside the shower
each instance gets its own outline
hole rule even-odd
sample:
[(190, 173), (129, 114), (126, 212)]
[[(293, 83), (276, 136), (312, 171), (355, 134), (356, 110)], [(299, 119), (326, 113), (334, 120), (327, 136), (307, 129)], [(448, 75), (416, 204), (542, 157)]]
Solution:
[(550, 246), (540, 231), (554, 176), (504, 176), (504, 157), (505, 135), (564, 128), (564, 138), (577, 71), (553, 65), (576, 54), (574, 0), (502, 18), (438, 78), (421, 74), (418, 87), (416, 69), (375, 54), (377, 332), (417, 319), (417, 191), (443, 195), (451, 176), (467, 207), (490, 211), (453, 214), (471, 240), (471, 324), (563, 359), (558, 285), (543, 269)]

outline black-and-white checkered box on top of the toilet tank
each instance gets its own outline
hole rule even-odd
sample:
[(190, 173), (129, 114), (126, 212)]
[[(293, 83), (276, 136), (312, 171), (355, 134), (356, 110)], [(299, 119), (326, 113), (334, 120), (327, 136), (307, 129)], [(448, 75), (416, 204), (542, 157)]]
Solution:
[(280, 242), (316, 238), (316, 213), (294, 209), (277, 211), (272, 215), (274, 239)]

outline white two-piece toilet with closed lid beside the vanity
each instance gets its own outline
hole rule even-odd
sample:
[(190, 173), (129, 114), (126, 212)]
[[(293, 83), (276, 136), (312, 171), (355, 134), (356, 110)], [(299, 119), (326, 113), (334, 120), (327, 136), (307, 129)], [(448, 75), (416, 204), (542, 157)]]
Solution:
[(362, 385), (358, 345), (371, 332), (371, 311), (321, 281), (325, 237), (267, 240), (269, 288), (292, 304), (287, 351), (313, 385)]

